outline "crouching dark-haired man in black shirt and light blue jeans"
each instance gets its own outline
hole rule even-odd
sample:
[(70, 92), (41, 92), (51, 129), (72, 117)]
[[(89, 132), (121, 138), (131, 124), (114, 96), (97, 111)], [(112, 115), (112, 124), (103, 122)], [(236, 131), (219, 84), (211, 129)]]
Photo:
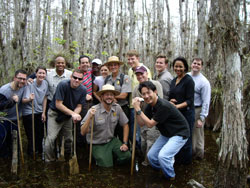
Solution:
[(162, 170), (167, 179), (174, 180), (174, 156), (190, 136), (188, 123), (174, 105), (157, 96), (152, 82), (140, 83), (139, 92), (147, 106), (142, 112), (140, 98), (133, 99), (137, 123), (149, 128), (156, 126), (161, 133), (148, 152), (149, 163), (153, 168)]

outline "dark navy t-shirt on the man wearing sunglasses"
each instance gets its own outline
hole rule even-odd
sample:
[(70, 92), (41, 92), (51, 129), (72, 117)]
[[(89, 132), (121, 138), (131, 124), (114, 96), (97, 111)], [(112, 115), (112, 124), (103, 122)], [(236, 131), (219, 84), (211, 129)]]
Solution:
[(70, 110), (75, 110), (78, 104), (84, 105), (87, 89), (82, 84), (77, 88), (70, 86), (70, 80), (61, 81), (56, 88), (56, 92), (50, 103), (50, 108), (57, 112), (60, 112), (56, 108), (56, 100), (63, 101), (63, 105)]

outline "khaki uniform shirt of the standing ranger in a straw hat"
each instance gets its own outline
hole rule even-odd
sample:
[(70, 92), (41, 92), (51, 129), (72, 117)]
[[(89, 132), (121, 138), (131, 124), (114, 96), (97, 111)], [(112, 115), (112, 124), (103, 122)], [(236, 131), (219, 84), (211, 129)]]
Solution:
[[(121, 85), (121, 73), (119, 73), (116, 77), (115, 80), (113, 80), (112, 75), (108, 78), (107, 80), (107, 84), (113, 85), (115, 87), (115, 90), (121, 92), (121, 93), (131, 93), (132, 89), (131, 89), (131, 82), (130, 82), (130, 78), (128, 77), (128, 75), (124, 75), (123, 78), (123, 84)], [(118, 104), (120, 106), (124, 106), (126, 104), (128, 104), (128, 100), (127, 99), (121, 99), (117, 101)]]

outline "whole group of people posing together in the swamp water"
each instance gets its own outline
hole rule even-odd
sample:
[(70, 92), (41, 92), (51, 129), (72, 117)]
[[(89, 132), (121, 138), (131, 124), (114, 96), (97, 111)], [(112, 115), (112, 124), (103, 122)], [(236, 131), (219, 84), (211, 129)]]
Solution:
[(201, 73), (202, 59), (194, 58), (188, 72), (186, 59), (176, 58), (173, 78), (164, 55), (157, 56), (153, 76), (136, 50), (128, 51), (126, 57), (127, 74), (121, 71), (124, 62), (117, 56), (103, 64), (100, 59), (91, 62), (86, 55), (79, 57), (79, 67), (73, 71), (66, 69), (67, 60), (60, 55), (54, 57), (54, 69), (39, 66), (28, 81), (24, 70), (16, 71), (13, 81), (0, 88), (0, 110), (11, 120), (0, 123), (0, 156), (11, 153), (11, 132), (17, 129), (19, 108), (27, 153), (31, 155), (33, 148), (38, 154), (44, 151), (46, 162), (56, 160), (58, 138), (64, 141), (65, 158), (71, 157), (73, 124), (77, 124), (78, 144), (85, 139), (90, 142), (93, 128), (92, 156), (98, 166), (130, 161), (135, 124), (139, 125), (136, 149), (143, 153), (142, 164), (162, 170), (167, 179), (175, 178), (175, 161), (190, 164), (192, 158), (202, 159), (211, 95), (209, 81)]

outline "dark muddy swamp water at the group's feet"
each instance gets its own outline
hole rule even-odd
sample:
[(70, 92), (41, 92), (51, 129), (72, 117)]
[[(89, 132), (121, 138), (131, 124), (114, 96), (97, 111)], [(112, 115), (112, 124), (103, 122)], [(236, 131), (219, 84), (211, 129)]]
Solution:
[[(176, 179), (165, 180), (160, 172), (150, 166), (144, 167), (140, 163), (139, 171), (130, 175), (130, 164), (113, 168), (100, 168), (92, 164), (88, 172), (88, 154), (79, 152), (78, 162), (80, 174), (69, 175), (68, 162), (54, 162), (45, 164), (41, 158), (33, 161), (25, 155), (25, 164), (19, 165), (18, 175), (11, 175), (11, 161), (0, 159), (0, 187), (87, 187), (87, 188), (165, 188), (189, 187), (190, 179), (202, 183), (205, 187), (213, 187), (213, 178), (216, 170), (218, 149), (215, 139), (218, 134), (205, 131), (206, 149), (202, 161), (194, 160), (191, 165), (176, 165)], [(24, 150), (25, 151), (25, 150)]]

